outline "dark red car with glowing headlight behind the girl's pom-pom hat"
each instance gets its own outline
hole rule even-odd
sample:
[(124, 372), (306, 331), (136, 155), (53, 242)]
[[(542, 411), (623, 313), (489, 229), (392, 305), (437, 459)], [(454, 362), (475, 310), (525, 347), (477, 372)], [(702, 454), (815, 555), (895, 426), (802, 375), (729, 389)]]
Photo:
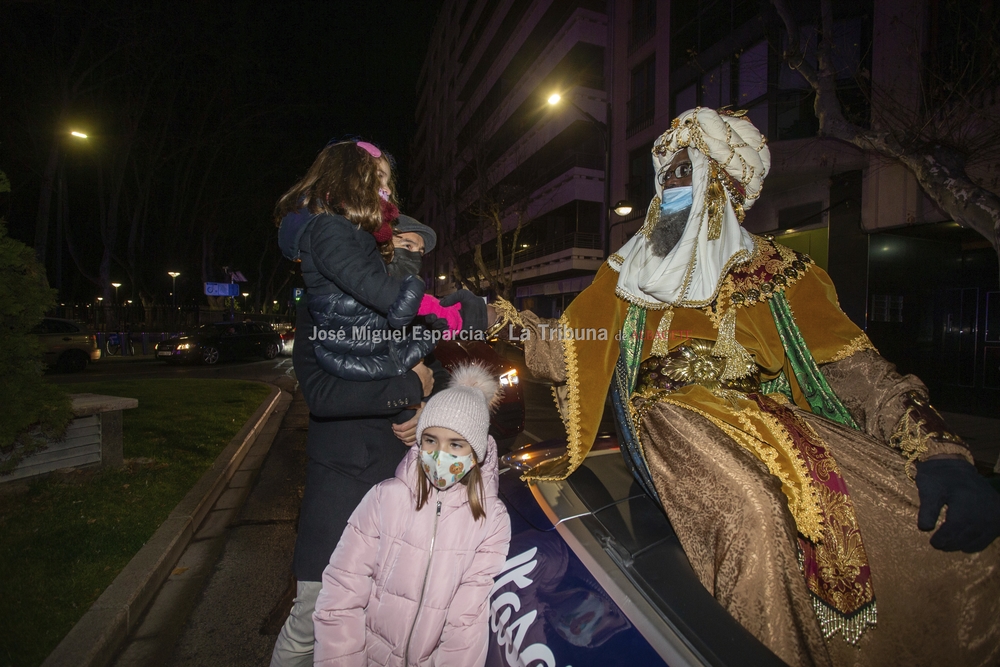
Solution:
[(442, 340), (433, 354), (449, 372), (465, 361), (479, 361), (493, 370), (503, 389), (503, 398), (490, 419), (490, 435), (501, 451), (509, 449), (524, 430), (524, 396), (514, 365), (483, 341)]

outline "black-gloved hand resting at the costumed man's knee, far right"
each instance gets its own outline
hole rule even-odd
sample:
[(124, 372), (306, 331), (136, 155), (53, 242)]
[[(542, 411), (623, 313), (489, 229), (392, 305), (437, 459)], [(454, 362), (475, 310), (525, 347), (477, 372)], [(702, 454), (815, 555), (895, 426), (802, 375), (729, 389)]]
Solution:
[(917, 491), (920, 530), (934, 530), (941, 508), (948, 506), (945, 522), (931, 537), (935, 549), (975, 553), (1000, 536), (1000, 493), (968, 461), (931, 459), (917, 463)]

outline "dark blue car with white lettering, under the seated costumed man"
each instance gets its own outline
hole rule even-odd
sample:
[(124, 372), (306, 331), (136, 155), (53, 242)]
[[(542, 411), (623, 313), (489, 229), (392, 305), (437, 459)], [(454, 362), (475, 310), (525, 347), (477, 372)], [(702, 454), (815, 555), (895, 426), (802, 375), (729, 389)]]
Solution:
[(565, 481), (521, 481), (564, 452), (560, 440), (501, 457), (511, 543), (491, 595), (488, 667), (784, 665), (702, 586), (615, 436)]

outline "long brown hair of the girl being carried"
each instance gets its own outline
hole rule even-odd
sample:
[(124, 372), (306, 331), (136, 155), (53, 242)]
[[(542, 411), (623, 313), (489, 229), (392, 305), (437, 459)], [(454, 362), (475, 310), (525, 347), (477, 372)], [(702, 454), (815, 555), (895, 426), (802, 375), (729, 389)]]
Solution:
[[(390, 199), (395, 203), (396, 182), (392, 157), (383, 152), (376, 158), (354, 141), (329, 144), (320, 151), (306, 175), (281, 196), (274, 208), (275, 222), (306, 208), (310, 213), (336, 213), (361, 229), (374, 233), (382, 226), (379, 161), (389, 166)], [(388, 245), (387, 248), (382, 246)], [(380, 244), (383, 258), (392, 258), (392, 240)]]

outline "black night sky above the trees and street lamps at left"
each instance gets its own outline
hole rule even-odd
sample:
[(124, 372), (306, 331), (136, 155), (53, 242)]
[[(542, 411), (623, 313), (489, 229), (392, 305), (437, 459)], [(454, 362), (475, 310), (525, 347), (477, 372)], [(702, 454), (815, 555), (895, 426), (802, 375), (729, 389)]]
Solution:
[[(178, 293), (195, 300), (223, 265), (266, 291), (288, 272), (274, 203), (331, 138), (392, 152), (406, 210), (415, 86), (439, 6), (0, 0), (0, 171), (13, 190), (0, 215), (33, 246), (56, 166), (46, 265), (61, 299), (92, 300), (105, 255), (133, 296), (162, 302), (165, 272), (179, 270)], [(77, 261), (64, 249), (58, 272), (60, 202)]]

